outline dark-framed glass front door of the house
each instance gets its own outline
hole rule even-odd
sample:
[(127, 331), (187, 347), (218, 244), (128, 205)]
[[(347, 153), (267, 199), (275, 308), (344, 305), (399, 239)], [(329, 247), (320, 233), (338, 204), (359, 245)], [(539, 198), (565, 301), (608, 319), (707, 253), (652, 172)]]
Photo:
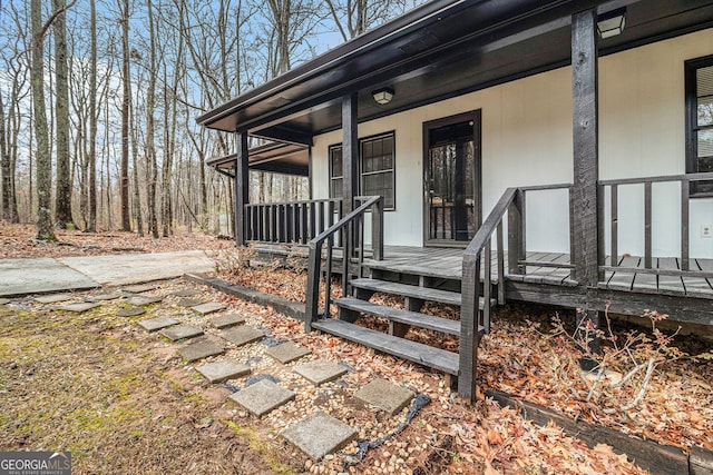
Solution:
[(480, 111), (423, 123), (427, 246), (467, 246), (482, 222)]

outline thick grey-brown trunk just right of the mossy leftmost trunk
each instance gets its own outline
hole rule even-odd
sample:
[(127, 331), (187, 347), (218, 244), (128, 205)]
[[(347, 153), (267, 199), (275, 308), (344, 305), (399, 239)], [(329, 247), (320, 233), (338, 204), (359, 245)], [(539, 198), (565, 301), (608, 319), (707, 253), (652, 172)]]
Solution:
[(57, 144), (57, 192), (55, 195), (55, 216), (58, 228), (72, 222), (71, 179), (69, 167), (69, 81), (67, 65), (67, 21), (65, 9), (67, 0), (52, 0), (55, 20), (55, 126)]

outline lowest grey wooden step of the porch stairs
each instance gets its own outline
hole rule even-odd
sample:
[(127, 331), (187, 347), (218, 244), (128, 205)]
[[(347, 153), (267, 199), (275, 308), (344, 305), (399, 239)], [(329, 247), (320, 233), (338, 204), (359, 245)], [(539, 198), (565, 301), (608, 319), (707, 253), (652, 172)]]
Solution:
[(456, 353), (387, 335), (336, 318), (314, 321), (312, 327), (399, 358), (458, 375), (458, 354)]

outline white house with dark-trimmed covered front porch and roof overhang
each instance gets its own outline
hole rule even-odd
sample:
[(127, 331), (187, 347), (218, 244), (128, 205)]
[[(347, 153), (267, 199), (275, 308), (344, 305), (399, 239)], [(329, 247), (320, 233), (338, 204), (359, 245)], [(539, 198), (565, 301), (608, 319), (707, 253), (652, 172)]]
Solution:
[[(198, 121), (236, 133), (238, 154), (212, 165), (235, 177), (240, 245), (314, 240), (380, 196), (378, 219), (344, 225), (374, 238), (372, 279), (439, 287), (419, 257), (384, 264), (389, 246), (465, 253), (440, 277), (462, 287), (451, 373), (469, 396), (496, 295), (713, 325), (712, 27), (711, 1), (436, 0)], [(250, 136), (284, 154), (260, 159)], [(313, 204), (247, 204), (251, 166), (309, 174)], [(328, 240), (311, 244), (318, 270)], [(381, 291), (343, 275), (356, 297)], [(429, 299), (403, 291), (409, 310)]]

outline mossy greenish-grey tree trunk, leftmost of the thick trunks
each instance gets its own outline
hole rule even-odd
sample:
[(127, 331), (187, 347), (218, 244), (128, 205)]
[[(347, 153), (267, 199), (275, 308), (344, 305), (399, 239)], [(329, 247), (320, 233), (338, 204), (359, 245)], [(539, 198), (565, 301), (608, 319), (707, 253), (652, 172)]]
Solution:
[(32, 24), (32, 62), (30, 82), (32, 88), (32, 109), (35, 112), (35, 136), (37, 137), (37, 238), (57, 240), (52, 230), (52, 210), (50, 189), (52, 186), (52, 161), (49, 152), (49, 131), (45, 110), (45, 28), (42, 27), (42, 2), (30, 1)]

